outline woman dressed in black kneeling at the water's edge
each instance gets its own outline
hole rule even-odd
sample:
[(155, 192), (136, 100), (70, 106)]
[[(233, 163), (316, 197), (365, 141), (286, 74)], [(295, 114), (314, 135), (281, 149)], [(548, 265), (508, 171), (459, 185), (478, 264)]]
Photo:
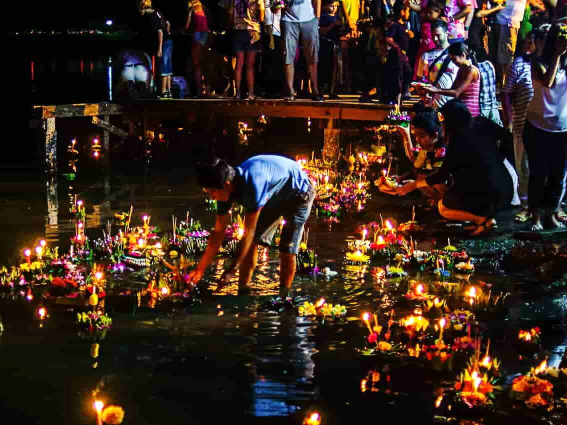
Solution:
[(496, 228), (494, 214), (510, 206), (514, 196), (513, 178), (497, 146), (497, 141), (505, 143), (511, 135), (486, 118), (473, 120), (467, 106), (457, 99), (448, 101), (441, 113), (447, 145), (443, 165), (438, 172), (409, 182), (397, 192), (407, 194), (451, 180), (438, 202), (439, 214), (473, 222), (476, 227), (472, 234), (481, 235)]

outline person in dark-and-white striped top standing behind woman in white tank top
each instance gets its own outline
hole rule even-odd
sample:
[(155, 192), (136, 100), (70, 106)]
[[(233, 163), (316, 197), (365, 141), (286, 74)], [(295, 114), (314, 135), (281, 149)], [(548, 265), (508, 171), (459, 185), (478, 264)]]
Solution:
[(518, 172), (518, 194), (521, 202), (521, 210), (515, 215), (515, 220), (519, 223), (525, 222), (531, 217), (528, 210), (528, 177), (530, 171), (522, 136), (528, 104), (534, 97), (531, 59), (534, 54), (536, 57), (541, 56), (546, 34), (547, 31), (543, 29), (528, 33), (524, 40), (526, 54), (515, 58), (506, 71), (506, 85), (501, 92), (504, 126), (511, 130), (514, 135), (514, 156)]

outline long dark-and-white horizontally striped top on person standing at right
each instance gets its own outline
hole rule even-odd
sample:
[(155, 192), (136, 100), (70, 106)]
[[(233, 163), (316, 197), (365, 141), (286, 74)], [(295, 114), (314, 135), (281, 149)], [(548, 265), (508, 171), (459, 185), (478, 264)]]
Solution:
[(508, 93), (512, 103), (512, 130), (521, 136), (526, 122), (526, 111), (532, 97), (534, 86), (531, 81), (531, 62), (520, 56), (514, 59), (506, 72), (506, 84), (503, 93)]

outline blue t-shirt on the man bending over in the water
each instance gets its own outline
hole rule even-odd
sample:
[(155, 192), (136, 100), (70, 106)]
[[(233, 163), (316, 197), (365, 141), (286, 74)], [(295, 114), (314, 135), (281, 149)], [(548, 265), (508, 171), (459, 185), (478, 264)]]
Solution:
[(260, 207), (278, 207), (299, 193), (308, 192), (311, 181), (292, 159), (277, 155), (257, 155), (235, 168), (232, 192), (228, 202), (217, 203), (217, 213), (229, 212), (232, 202), (238, 202), (247, 213)]

